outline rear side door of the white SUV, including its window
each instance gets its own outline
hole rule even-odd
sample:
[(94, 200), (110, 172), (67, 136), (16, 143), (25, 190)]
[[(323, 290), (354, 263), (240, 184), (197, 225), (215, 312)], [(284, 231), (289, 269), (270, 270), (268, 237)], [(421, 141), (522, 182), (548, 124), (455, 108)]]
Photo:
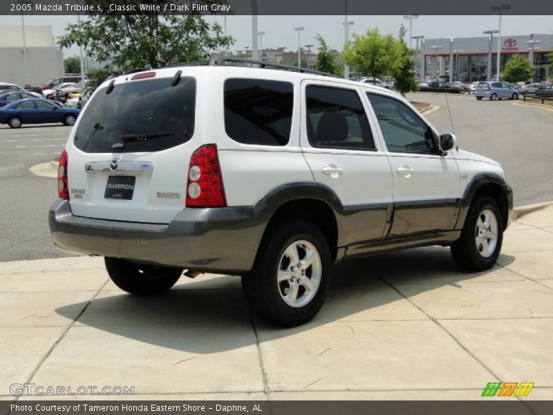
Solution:
[(341, 243), (382, 239), (391, 210), (391, 171), (361, 89), (306, 80), (301, 95), (301, 149), (315, 182), (330, 188), (342, 205)]

